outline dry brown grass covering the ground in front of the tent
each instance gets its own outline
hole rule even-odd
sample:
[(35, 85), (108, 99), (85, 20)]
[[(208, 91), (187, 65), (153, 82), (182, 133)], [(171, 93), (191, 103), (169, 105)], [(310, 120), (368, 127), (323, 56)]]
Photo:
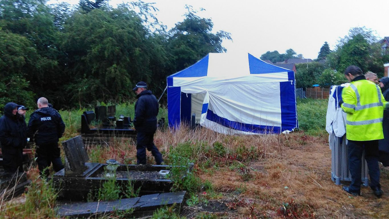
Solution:
[[(297, 218), (282, 215), (288, 210), (306, 218), (389, 218), (389, 169), (381, 167), (382, 198), (376, 198), (369, 187), (362, 196), (350, 197), (331, 181), (331, 151), (328, 137), (312, 137), (304, 132), (288, 135), (230, 136), (204, 128), (182, 128), (173, 132), (157, 131), (154, 142), (164, 158), (182, 144), (196, 147), (193, 156), (195, 173), (202, 182), (210, 181), (222, 201), (236, 206), (220, 214), (224, 218)], [(224, 156), (213, 155), (214, 143), (221, 142)], [(243, 148), (242, 157), (236, 155)], [(135, 163), (136, 149), (131, 139), (113, 139), (98, 145), (87, 145), (95, 162), (115, 158), (120, 163)], [(249, 152), (254, 148), (256, 156)], [(154, 164), (148, 153), (148, 163)], [(213, 157), (212, 157), (213, 156)], [(204, 166), (205, 162), (210, 165)], [(201, 195), (202, 192), (199, 193)], [(234, 204), (235, 203), (235, 204)], [(219, 214), (219, 213), (218, 213)]]

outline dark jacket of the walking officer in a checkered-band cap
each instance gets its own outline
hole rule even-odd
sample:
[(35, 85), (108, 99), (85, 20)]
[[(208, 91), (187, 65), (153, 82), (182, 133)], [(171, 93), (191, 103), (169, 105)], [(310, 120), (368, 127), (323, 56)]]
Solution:
[(137, 95), (135, 103), (134, 126), (137, 131), (155, 132), (159, 105), (157, 98), (150, 90)]

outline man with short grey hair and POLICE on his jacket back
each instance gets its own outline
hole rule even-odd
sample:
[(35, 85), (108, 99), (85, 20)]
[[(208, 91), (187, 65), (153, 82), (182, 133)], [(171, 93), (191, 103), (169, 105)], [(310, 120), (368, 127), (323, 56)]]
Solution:
[[(35, 139), (37, 163), (40, 174), (48, 176), (47, 168), (53, 163), (54, 171), (64, 168), (58, 140), (65, 131), (61, 115), (48, 106), (46, 98), (38, 99), (38, 110), (33, 112), (28, 122), (28, 136)], [(44, 172), (45, 171), (45, 172)]]

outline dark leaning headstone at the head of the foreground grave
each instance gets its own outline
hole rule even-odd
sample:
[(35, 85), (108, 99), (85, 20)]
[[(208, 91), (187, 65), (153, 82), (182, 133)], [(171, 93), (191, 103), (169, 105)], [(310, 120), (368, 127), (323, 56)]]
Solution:
[(62, 142), (65, 151), (65, 175), (82, 176), (88, 166), (88, 154), (86, 153), (81, 135)]

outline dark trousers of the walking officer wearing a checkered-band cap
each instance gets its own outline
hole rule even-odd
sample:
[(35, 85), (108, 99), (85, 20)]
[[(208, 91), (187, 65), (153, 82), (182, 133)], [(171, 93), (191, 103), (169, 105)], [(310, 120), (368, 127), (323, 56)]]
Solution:
[(151, 151), (157, 165), (163, 161), (162, 154), (154, 145), (154, 132), (139, 131), (137, 133), (137, 164), (146, 164), (146, 148)]

